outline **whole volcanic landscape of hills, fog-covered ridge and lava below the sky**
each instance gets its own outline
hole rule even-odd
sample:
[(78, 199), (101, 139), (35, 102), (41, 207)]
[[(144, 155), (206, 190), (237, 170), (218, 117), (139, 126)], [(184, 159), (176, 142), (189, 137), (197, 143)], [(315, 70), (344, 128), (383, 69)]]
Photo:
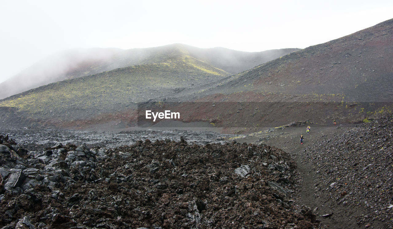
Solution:
[(0, 225), (391, 228), (392, 29), (43, 60), (0, 84)]

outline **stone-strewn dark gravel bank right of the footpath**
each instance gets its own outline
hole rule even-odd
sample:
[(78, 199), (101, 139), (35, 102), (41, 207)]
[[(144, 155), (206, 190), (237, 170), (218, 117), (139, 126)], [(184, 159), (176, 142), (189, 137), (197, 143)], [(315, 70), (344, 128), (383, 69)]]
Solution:
[[(314, 176), (313, 197), (349, 223), (393, 225), (393, 116), (318, 136), (299, 156)], [(353, 224), (352, 224), (353, 225)]]

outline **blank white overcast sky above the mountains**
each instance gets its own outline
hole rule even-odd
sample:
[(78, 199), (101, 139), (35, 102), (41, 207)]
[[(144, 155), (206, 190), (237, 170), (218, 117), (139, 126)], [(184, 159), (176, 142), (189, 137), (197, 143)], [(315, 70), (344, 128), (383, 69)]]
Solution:
[(0, 82), (70, 48), (305, 48), (391, 18), (392, 0), (0, 0)]

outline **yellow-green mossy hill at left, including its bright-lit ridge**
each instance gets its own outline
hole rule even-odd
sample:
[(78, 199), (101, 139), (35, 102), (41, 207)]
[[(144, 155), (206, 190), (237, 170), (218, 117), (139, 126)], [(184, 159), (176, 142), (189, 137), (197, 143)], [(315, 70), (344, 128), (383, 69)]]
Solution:
[[(230, 75), (180, 49), (159, 58), (155, 58), (159, 63), (63, 80), (10, 96), (0, 101), (0, 107), (6, 111), (2, 119), (9, 120), (9, 113), (17, 113), (23, 114), (20, 120), (58, 125), (63, 121), (89, 120), (101, 114), (116, 115), (136, 109), (138, 102), (152, 98), (165, 100), (185, 89), (214, 84)], [(129, 114), (120, 116), (129, 117)], [(6, 124), (15, 124), (15, 120), (10, 122), (13, 123)]]

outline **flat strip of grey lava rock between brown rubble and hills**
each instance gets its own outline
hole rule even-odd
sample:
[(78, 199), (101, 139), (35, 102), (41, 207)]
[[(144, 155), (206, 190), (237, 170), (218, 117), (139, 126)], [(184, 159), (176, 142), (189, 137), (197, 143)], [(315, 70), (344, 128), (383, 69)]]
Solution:
[(56, 144), (76, 144), (87, 147), (116, 148), (135, 144), (138, 140), (151, 141), (168, 139), (179, 141), (183, 136), (189, 144), (205, 145), (208, 143), (225, 142), (225, 139), (236, 137), (234, 134), (219, 134), (211, 131), (189, 130), (135, 130), (121, 132), (107, 131), (73, 131), (73, 130), (31, 130), (12, 129), (6, 132), (18, 142), (19, 147), (33, 151), (44, 151)]

